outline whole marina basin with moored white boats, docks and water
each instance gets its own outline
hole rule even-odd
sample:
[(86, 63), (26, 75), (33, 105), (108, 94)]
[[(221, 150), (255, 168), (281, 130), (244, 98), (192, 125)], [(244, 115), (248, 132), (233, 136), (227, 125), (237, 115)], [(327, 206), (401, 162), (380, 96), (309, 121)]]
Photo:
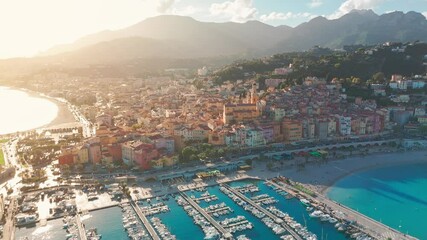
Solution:
[(119, 206), (64, 217), (61, 238), (373, 239), (339, 213), (269, 180), (232, 181)]

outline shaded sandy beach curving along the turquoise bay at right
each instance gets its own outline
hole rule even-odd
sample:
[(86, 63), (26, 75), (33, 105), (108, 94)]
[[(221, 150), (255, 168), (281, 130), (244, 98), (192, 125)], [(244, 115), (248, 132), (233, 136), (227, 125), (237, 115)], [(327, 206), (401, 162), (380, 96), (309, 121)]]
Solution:
[(248, 172), (248, 174), (264, 178), (275, 177), (277, 175), (285, 176), (294, 181), (303, 183), (312, 190), (325, 195), (329, 187), (348, 175), (357, 174), (360, 171), (374, 168), (415, 163), (427, 163), (427, 150), (375, 153), (367, 156), (354, 156), (340, 160), (330, 160), (328, 163), (321, 165), (310, 163), (299, 171), (295, 166), (279, 171), (255, 168)]

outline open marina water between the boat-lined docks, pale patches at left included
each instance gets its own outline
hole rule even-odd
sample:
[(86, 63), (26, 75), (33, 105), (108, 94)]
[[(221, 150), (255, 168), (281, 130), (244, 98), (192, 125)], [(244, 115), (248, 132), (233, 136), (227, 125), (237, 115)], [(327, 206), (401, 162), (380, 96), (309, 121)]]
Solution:
[[(309, 231), (315, 233), (318, 239), (332, 239), (332, 240), (344, 240), (347, 239), (343, 233), (335, 230), (333, 224), (327, 222), (321, 222), (318, 218), (310, 218), (308, 212), (305, 210), (305, 206), (298, 199), (285, 199), (282, 195), (276, 193), (273, 189), (266, 186), (261, 181), (241, 181), (230, 183), (231, 186), (239, 186), (247, 183), (256, 184), (260, 191), (253, 195), (247, 194), (248, 197), (268, 194), (275, 199), (279, 200), (278, 203), (273, 204), (276, 208), (281, 209), (284, 212), (289, 213), (296, 221), (303, 225), (307, 225)], [(208, 187), (207, 191), (210, 194), (216, 195), (218, 200), (206, 203), (200, 202), (201, 207), (207, 207), (208, 205), (217, 204), (224, 202), (227, 206), (232, 208), (234, 212), (227, 215), (215, 218), (217, 221), (224, 220), (225, 218), (236, 217), (238, 215), (244, 216), (249, 222), (254, 225), (254, 228), (248, 229), (233, 234), (234, 237), (244, 234), (250, 239), (279, 239), (273, 231), (268, 228), (261, 220), (254, 217), (249, 212), (245, 211), (241, 206), (234, 203), (227, 195), (222, 193), (219, 186)], [(202, 192), (187, 191), (188, 196), (194, 195), (199, 197)], [(151, 203), (156, 203), (157, 200), (152, 199)], [(175, 235), (177, 239), (203, 239), (204, 234), (202, 230), (193, 223), (193, 219), (186, 214), (184, 209), (179, 206), (173, 197), (170, 197), (167, 201), (163, 201), (169, 206), (170, 211), (166, 213), (156, 214), (163, 224), (169, 229), (171, 234)], [(146, 201), (140, 202), (140, 205), (147, 205)], [(148, 217), (151, 218), (151, 217)], [(107, 240), (125, 240), (128, 239), (126, 232), (122, 225), (122, 212), (119, 207), (112, 207), (97, 211), (92, 211), (88, 215), (82, 216), (82, 221), (86, 226), (86, 229), (96, 227), (98, 233), (102, 234), (102, 239)], [(50, 227), (45, 228), (30, 228), (20, 230), (17, 236), (34, 236), (32, 239), (64, 239), (65, 231), (62, 229), (61, 220), (49, 221)], [(34, 234), (36, 232), (43, 232), (42, 234)], [(323, 237), (322, 237), (323, 236)], [(18, 238), (19, 239), (19, 238)]]

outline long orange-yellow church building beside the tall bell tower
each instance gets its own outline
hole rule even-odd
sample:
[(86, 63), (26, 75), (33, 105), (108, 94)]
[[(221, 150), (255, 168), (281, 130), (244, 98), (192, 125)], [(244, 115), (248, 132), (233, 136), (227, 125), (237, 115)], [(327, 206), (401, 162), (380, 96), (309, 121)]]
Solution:
[(223, 122), (230, 124), (231, 121), (251, 121), (260, 116), (256, 104), (224, 104)]

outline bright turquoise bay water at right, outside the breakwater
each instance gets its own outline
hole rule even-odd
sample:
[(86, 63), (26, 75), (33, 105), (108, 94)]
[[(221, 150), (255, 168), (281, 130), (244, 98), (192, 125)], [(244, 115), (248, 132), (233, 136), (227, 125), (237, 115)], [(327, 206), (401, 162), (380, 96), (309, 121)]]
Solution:
[(403, 233), (427, 239), (427, 164), (359, 172), (338, 181), (328, 197)]

